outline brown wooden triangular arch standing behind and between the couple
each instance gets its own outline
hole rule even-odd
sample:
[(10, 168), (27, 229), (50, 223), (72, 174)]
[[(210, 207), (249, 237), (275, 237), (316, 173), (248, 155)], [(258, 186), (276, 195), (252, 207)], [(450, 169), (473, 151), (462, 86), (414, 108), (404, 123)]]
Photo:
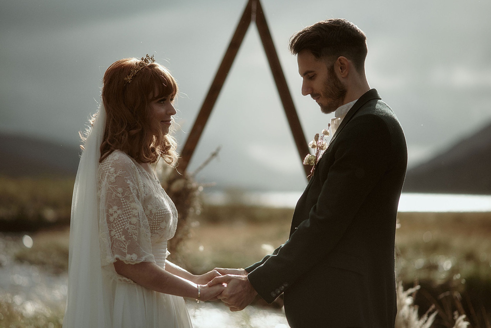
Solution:
[[(297, 110), (295, 109), (295, 105), (293, 104), (290, 90), (288, 89), (288, 85), (286, 84), (285, 76), (283, 74), (283, 70), (281, 69), (278, 55), (276, 53), (276, 50), (274, 49), (273, 39), (271, 37), (268, 24), (266, 23), (266, 17), (264, 16), (261, 3), (259, 0), (248, 0), (244, 13), (242, 14), (235, 33), (232, 36), (232, 40), (230, 41), (228, 49), (223, 56), (220, 66), (218, 67), (215, 79), (213, 80), (212, 85), (208, 90), (208, 94), (206, 95), (206, 98), (203, 101), (203, 105), (199, 110), (198, 116), (194, 121), (191, 133), (189, 134), (189, 137), (184, 144), (184, 148), (181, 151), (181, 158), (179, 159), (177, 170), (182, 174), (186, 171), (186, 168), (188, 167), (191, 156), (194, 153), (194, 149), (196, 148), (199, 138), (203, 133), (206, 122), (208, 121), (210, 113), (215, 106), (215, 102), (217, 101), (221, 87), (225, 82), (227, 74), (230, 71), (230, 67), (234, 62), (235, 56), (239, 51), (239, 47), (244, 40), (244, 36), (246, 35), (246, 31), (251, 22), (256, 23), (257, 29), (259, 31), (259, 36), (261, 37), (261, 42), (263, 43), (264, 51), (266, 53), (271, 71), (273, 73), (274, 82), (276, 83), (276, 88), (278, 89), (281, 103), (283, 105), (283, 109), (285, 110), (288, 124), (290, 125), (290, 130), (292, 131), (293, 138), (295, 139), (295, 144), (299, 152), (300, 161), (303, 161), (305, 155), (309, 153), (305, 135), (303, 134), (303, 130), (300, 125), (299, 116), (297, 115)], [(310, 174), (310, 166), (303, 165), (303, 167), (305, 169), (305, 176), (308, 176)]]

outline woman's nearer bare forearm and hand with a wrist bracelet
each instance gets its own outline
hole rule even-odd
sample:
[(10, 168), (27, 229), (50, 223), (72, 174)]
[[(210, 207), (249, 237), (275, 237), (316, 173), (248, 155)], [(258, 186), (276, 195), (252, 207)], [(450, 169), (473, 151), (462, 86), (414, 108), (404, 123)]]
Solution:
[[(123, 261), (117, 260), (113, 263), (113, 265), (116, 273), (133, 280), (135, 283), (145, 288), (165, 294), (189, 297), (193, 299), (198, 298), (197, 284), (176, 274), (168, 272), (155, 263), (141, 262), (136, 264), (126, 264)], [(184, 271), (184, 269), (181, 270)], [(203, 301), (212, 300), (218, 294), (220, 294), (224, 288), (225, 287), (222, 285), (215, 285), (212, 287), (200, 285), (200, 299)]]

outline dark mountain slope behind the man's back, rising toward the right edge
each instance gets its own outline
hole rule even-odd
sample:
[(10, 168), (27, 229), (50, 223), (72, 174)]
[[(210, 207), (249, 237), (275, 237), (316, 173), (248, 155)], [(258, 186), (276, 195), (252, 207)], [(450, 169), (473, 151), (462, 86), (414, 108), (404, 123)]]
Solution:
[(491, 194), (491, 124), (408, 170), (403, 191)]

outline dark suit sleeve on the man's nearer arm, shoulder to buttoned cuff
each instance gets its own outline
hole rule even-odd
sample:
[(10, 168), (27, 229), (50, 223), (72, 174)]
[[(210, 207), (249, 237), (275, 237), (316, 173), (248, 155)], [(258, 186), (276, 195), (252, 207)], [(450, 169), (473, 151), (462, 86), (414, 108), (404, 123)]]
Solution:
[(387, 170), (390, 132), (379, 116), (355, 116), (337, 138), (334, 162), (308, 218), (276, 254), (250, 267), (248, 279), (267, 302), (329, 254)]

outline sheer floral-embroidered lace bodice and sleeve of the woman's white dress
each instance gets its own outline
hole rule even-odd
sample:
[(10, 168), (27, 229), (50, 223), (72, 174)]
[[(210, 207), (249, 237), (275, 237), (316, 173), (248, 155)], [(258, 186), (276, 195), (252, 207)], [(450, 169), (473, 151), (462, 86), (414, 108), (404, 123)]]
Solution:
[(98, 184), (102, 266), (116, 259), (155, 262), (152, 244), (172, 238), (177, 226), (177, 210), (159, 181), (114, 151), (99, 165)]

